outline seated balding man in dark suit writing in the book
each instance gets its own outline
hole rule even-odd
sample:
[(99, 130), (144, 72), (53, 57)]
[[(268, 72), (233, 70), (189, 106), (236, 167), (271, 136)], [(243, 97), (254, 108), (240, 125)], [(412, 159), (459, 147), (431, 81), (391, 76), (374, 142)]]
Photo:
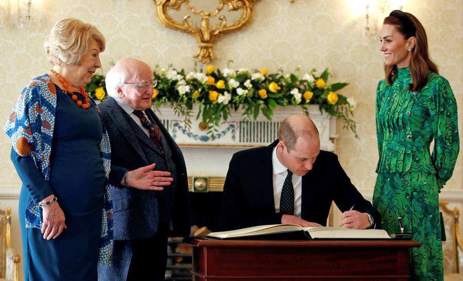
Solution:
[(283, 120), (278, 138), (231, 158), (219, 230), (277, 223), (325, 226), (332, 201), (344, 212), (344, 227), (379, 227), (380, 214), (355, 189), (337, 156), (320, 151), (318, 130), (310, 118), (294, 115)]

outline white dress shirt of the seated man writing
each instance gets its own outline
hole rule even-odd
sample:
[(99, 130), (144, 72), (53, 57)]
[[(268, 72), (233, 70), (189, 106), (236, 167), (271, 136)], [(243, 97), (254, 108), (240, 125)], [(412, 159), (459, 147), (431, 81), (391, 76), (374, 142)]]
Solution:
[[(276, 156), (278, 145), (273, 148), (272, 166), (273, 166), (273, 200), (275, 203), (275, 212), (280, 212), (280, 197), (283, 183), (288, 176), (288, 168), (283, 166)], [(302, 204), (302, 177), (293, 174), (291, 178), (294, 188), (294, 215), (300, 218)]]

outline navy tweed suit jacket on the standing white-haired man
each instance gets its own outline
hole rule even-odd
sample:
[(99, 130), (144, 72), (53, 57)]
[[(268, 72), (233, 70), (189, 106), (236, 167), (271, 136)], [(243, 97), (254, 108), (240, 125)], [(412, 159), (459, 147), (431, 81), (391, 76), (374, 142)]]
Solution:
[[(174, 188), (173, 186), (165, 187), (165, 191), (170, 189), (169, 193), (125, 187), (112, 188), (114, 239), (131, 240), (152, 237), (157, 231), (160, 220), (172, 223), (169, 236), (189, 236), (188, 181), (185, 160), (179, 146), (151, 109), (145, 110), (145, 113), (161, 129), (172, 152), (172, 159), (165, 159), (159, 153), (149, 137), (113, 98), (108, 98), (98, 107), (110, 137), (112, 164), (127, 168), (130, 171), (152, 163), (156, 163), (155, 170), (168, 171), (167, 161), (173, 161), (176, 166)], [(162, 196), (165, 197), (161, 198)], [(162, 200), (170, 201), (170, 210), (158, 210), (163, 208), (163, 205), (160, 204)], [(159, 215), (165, 217), (159, 217)], [(121, 266), (122, 268), (119, 269), (123, 272), (114, 272), (115, 268), (99, 267), (99, 275), (106, 275), (105, 278), (101, 279), (111, 280), (112, 278), (118, 279), (118, 276), (127, 276), (131, 254), (130, 249), (124, 249), (123, 253), (114, 253), (114, 258), (122, 259), (115, 264), (126, 266)]]

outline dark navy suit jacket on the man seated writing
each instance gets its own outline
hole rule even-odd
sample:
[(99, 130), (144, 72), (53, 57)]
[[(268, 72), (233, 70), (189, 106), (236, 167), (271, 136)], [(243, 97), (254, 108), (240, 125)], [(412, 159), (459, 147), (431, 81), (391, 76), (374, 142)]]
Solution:
[[(223, 190), (219, 230), (233, 230), (262, 224), (281, 223), (275, 213), (273, 195), (273, 148), (237, 152), (231, 158)], [(326, 226), (334, 201), (342, 211), (367, 212), (379, 227), (381, 216), (350, 182), (334, 153), (320, 151), (312, 170), (302, 176), (301, 218)]]

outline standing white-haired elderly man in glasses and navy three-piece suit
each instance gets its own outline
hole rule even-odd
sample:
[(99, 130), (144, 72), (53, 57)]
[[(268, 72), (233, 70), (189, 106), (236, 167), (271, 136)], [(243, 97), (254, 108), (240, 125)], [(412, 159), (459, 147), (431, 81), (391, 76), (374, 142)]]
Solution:
[[(115, 186), (112, 266), (99, 265), (99, 280), (164, 280), (169, 236), (190, 233), (185, 161), (175, 141), (151, 110), (153, 72), (135, 59), (122, 59), (106, 74), (110, 98), (99, 105), (111, 141), (112, 164), (152, 164), (157, 190)], [(126, 174), (127, 185), (131, 175)]]

